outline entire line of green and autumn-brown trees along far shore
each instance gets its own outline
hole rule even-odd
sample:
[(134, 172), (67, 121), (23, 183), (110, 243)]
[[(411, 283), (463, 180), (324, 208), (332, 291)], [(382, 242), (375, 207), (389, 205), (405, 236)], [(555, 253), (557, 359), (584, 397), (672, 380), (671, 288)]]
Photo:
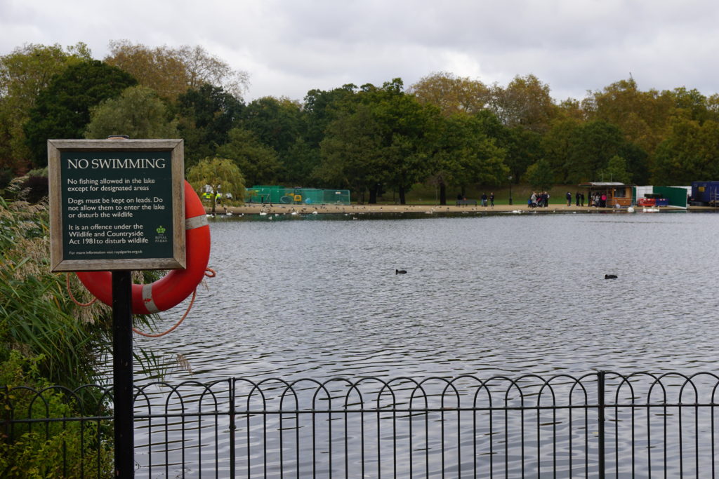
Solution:
[[(229, 159), (244, 185), (687, 185), (719, 177), (719, 95), (619, 80), (557, 102), (534, 75), (487, 85), (432, 73), (245, 102), (249, 75), (202, 47), (24, 45), (0, 57), (0, 182), (47, 164), (49, 138), (185, 139), (186, 167)], [(0, 185), (1, 187), (1, 185)]]

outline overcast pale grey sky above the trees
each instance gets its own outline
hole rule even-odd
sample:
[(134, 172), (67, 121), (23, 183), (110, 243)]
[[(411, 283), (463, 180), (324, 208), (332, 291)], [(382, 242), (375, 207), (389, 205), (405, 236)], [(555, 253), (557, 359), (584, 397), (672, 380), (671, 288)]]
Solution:
[(201, 45), (249, 73), (245, 98), (433, 72), (506, 85), (533, 73), (557, 100), (632, 77), (719, 91), (716, 0), (0, 0), (0, 55), (24, 43)]

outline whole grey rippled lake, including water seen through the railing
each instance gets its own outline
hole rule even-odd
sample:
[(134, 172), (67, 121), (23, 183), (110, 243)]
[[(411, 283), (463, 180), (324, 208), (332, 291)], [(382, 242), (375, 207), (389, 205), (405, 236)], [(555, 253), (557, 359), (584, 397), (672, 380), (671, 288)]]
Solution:
[[(229, 377), (249, 378), (255, 383), (267, 378), (325, 381), (367, 376), (383, 381), (406, 376), (420, 381), (431, 376), (462, 375), (518, 378), (528, 373), (549, 378), (563, 373), (578, 377), (598, 370), (627, 374), (673, 371), (689, 375), (715, 371), (719, 360), (715, 294), (719, 216), (713, 213), (467, 214), (451, 218), (288, 215), (273, 216), (272, 220), (255, 216), (211, 220), (211, 233), (210, 267), (217, 275), (207, 281), (206, 288), (198, 289), (198, 299), (188, 319), (163, 338), (136, 339), (137, 345), (170, 360), (164, 376), (170, 383)], [(395, 269), (405, 269), (407, 273), (395, 274)], [(605, 280), (605, 274), (618, 278)], [(172, 325), (182, 312), (183, 307), (178, 307), (162, 313), (164, 325)], [(178, 354), (189, 368), (173, 366), (173, 358)], [(141, 371), (137, 371), (136, 381), (140, 386), (147, 382)], [(314, 383), (295, 389), (300, 395), (310, 396), (316, 390)], [(151, 391), (150, 396), (157, 393), (152, 401), (160, 404), (162, 412), (166, 403), (160, 389), (146, 391)], [(249, 404), (247, 398), (251, 394), (247, 394), (246, 388), (243, 391), (237, 391), (238, 398), (242, 396), (242, 401)], [(283, 389), (275, 387), (275, 397), (278, 391)], [(408, 394), (406, 389), (403, 394)], [(462, 401), (472, 397), (461, 395)], [(589, 396), (590, 403), (595, 401), (596, 389)], [(631, 400), (631, 396), (623, 394), (620, 399)], [(201, 402), (198, 397), (198, 391), (183, 396), (186, 404), (182, 407), (193, 401)], [(341, 400), (342, 392), (336, 397)], [(503, 395), (497, 397), (501, 399)], [(167, 411), (167, 406), (164, 407)], [(257, 409), (265, 407), (259, 404)], [(682, 434), (677, 434), (682, 424), (679, 414), (669, 414), (674, 416), (671, 419), (674, 429), (666, 434), (667, 441), (673, 444), (667, 462), (663, 462), (661, 445), (655, 445), (654, 438), (644, 449), (641, 446), (644, 443), (633, 446), (634, 434), (640, 441), (650, 419), (659, 421), (652, 425), (654, 431), (661, 430), (662, 424), (667, 427), (667, 414), (661, 413), (640, 411), (637, 414), (645, 416), (641, 420), (638, 417), (638, 429), (617, 430), (616, 442), (608, 439), (608, 451), (616, 450), (623, 455), (617, 460), (620, 465), (614, 466), (618, 476), (648, 475), (650, 461), (644, 457), (654, 447), (659, 447), (652, 459), (654, 471), (666, 469), (669, 475), (677, 477), (693, 467), (702, 470), (699, 465), (692, 465), (691, 445), (682, 452), (683, 462), (674, 452), (682, 442)], [(550, 412), (540, 415), (539, 411), (534, 419), (531, 413), (526, 417), (514, 416), (508, 420), (508, 436), (492, 439), (493, 434), (503, 434), (498, 432), (505, 428), (501, 413), (487, 419), (482, 412), (485, 429), (472, 427), (470, 415), (459, 421), (456, 429), (448, 426), (447, 432), (437, 413), (431, 414), (399, 417), (397, 424), (403, 424), (401, 427), (411, 427), (415, 421), (427, 422), (416, 424), (414, 432), (392, 429), (394, 433), (387, 436), (398, 437), (402, 444), (408, 438), (416, 439), (415, 446), (410, 442), (398, 455), (398, 476), (456, 477), (470, 473), (477, 457), (486, 471), (487, 458), (497, 454), (501, 457), (495, 475), (501, 474), (504, 452), (510, 457), (510, 477), (519, 477), (522, 471), (537, 474), (539, 468), (551, 470), (554, 447), (563, 457), (569, 457), (572, 454), (567, 446), (571, 444), (576, 454), (585, 441), (588, 449), (594, 448), (587, 452), (587, 457), (596, 457), (596, 425), (580, 424), (577, 428), (577, 423), (572, 426), (571, 418), (568, 421), (566, 416), (560, 419)], [(615, 415), (610, 417), (612, 414)], [(590, 415), (596, 418), (596, 411)], [(528, 417), (535, 422), (527, 423)], [(674, 426), (677, 417), (679, 429)], [(307, 471), (314, 467), (313, 461), (322, 462), (329, 457), (320, 452), (319, 458), (313, 459), (315, 455), (309, 445), (314, 444), (314, 435), (311, 440), (299, 435), (308, 431), (314, 434), (314, 424), (301, 424), (299, 417), (291, 424), (285, 422), (287, 418), (276, 422), (276, 417), (267, 419), (262, 414), (253, 418), (238, 429), (238, 441), (247, 434), (245, 446), (235, 447), (238, 473), (264, 477), (269, 470), (267, 477), (279, 477), (278, 471), (283, 466), (278, 462), (278, 451), (282, 450), (285, 460), (296, 454), (296, 463), (301, 464), (298, 468), (303, 468), (303, 473), (297, 475), (306, 477), (305, 473), (309, 474)], [(619, 412), (609, 410), (608, 429), (613, 428), (611, 424), (620, 423), (623, 428), (634, 427), (634, 420), (619, 418)], [(684, 424), (693, 424), (690, 419), (684, 416)], [(321, 424), (334, 424), (331, 427), (342, 427), (331, 419), (318, 420)], [(486, 430), (487, 420), (497, 422), (494, 433)], [(709, 424), (714, 421), (710, 419)], [(209, 451), (198, 453), (196, 458), (204, 468), (203, 474), (215, 469), (220, 476), (229, 473), (226, 418), (221, 419), (219, 426), (196, 427), (193, 423), (192, 427), (199, 431), (194, 440), (189, 439), (193, 431), (183, 429), (180, 436), (173, 429), (177, 437), (170, 440), (162, 427), (150, 430), (145, 424), (139, 424), (136, 432), (139, 447), (135, 457), (142, 464), (138, 477), (156, 477), (154, 473), (143, 472), (150, 456), (155, 465), (172, 462), (171, 477), (182, 473), (198, 475), (197, 466), (186, 465), (184, 470), (178, 466), (191, 462), (189, 451), (195, 448)], [(549, 428), (543, 432), (546, 435), (541, 440), (541, 452), (525, 450), (523, 434), (539, 431), (540, 424), (543, 429)], [(266, 434), (266, 427), (275, 429)], [(341, 451), (343, 434), (349, 434), (350, 443), (357, 441), (359, 426), (353, 423), (351, 427), (352, 434), (350, 429), (337, 430), (329, 436), (325, 432), (319, 440), (329, 437), (329, 444), (334, 437), (334, 441), (339, 441), (335, 450)], [(369, 437), (375, 434), (370, 433), (374, 430), (372, 424), (362, 427), (366, 427)], [(422, 437), (425, 428), (427, 435)], [(286, 431), (285, 440), (273, 436), (280, 430)], [(445, 434), (450, 430), (456, 430), (458, 446), (445, 450), (441, 441), (446, 440)], [(298, 434), (294, 443), (293, 432)], [(684, 440), (691, 441), (692, 435), (684, 434)], [(702, 429), (701, 434), (702, 457), (712, 457), (705, 444), (711, 445), (713, 436), (705, 442), (710, 432)], [(379, 432), (375, 435), (379, 440)], [(430, 436), (444, 439), (430, 442)], [(285, 443), (287, 437), (289, 445)], [(492, 442), (497, 449), (489, 455), (486, 450), (477, 452), (473, 449), (477, 438), (480, 447), (487, 447), (487, 441), (497, 441)], [(169, 452), (165, 445), (169, 445)], [(637, 459), (636, 470), (631, 462), (635, 447), (636, 457), (641, 458)], [(354, 472), (367, 460), (365, 454), (367, 457), (383, 454), (379, 445), (363, 450), (362, 457), (357, 456), (357, 447), (350, 446), (349, 450), (352, 452), (347, 452), (347, 468)], [(426, 462), (422, 462), (425, 452)], [(453, 456), (459, 452), (462, 461)], [(180, 457), (180, 453), (182, 461), (173, 459)], [(214, 463), (217, 457), (219, 465)], [(241, 464), (242, 457), (246, 463)], [(520, 457), (526, 457), (526, 468)], [(344, 463), (337, 462), (339, 465), (323, 462), (319, 477), (328, 477), (329, 471), (344, 477)], [(408, 473), (407, 465), (415, 462), (426, 464), (426, 471)], [(377, 463), (383, 468), (394, 464), (388, 460)], [(597, 465), (590, 464), (590, 470), (595, 471)], [(525, 469), (518, 470), (520, 465)], [(561, 462), (554, 467), (562, 477), (570, 470), (581, 477), (584, 475), (581, 465), (579, 460), (578, 466)], [(247, 473), (242, 469), (245, 466)], [(684, 470), (679, 469), (682, 467)], [(291, 469), (288, 475), (295, 477)], [(366, 477), (376, 475), (370, 472)], [(392, 475), (392, 471), (383, 473), (385, 477)], [(479, 477), (490, 475), (480, 473)]]

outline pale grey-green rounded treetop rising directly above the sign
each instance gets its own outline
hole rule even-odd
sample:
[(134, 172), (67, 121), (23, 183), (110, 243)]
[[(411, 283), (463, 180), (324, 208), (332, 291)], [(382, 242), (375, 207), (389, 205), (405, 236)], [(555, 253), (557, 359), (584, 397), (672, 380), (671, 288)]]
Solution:
[(132, 86), (117, 98), (109, 98), (91, 108), (86, 138), (104, 139), (109, 135), (130, 138), (177, 138), (177, 121), (154, 90)]

